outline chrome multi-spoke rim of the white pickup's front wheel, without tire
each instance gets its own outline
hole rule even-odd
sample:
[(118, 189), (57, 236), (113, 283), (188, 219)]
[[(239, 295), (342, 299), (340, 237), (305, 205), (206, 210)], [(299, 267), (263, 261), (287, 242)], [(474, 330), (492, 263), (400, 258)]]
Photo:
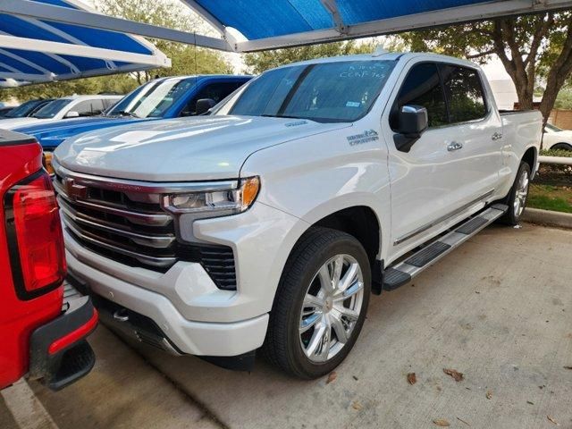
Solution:
[(300, 314), (299, 338), (306, 356), (326, 362), (351, 337), (362, 310), (364, 279), (354, 257), (337, 255), (310, 282)]

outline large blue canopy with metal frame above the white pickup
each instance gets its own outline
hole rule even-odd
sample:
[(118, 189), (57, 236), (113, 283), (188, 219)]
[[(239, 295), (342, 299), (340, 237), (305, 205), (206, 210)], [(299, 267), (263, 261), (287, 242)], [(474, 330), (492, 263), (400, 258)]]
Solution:
[[(570, 0), (182, 0), (237, 52), (542, 13)], [(231, 30), (233, 29), (233, 30)], [(238, 35), (237, 35), (238, 32)]]

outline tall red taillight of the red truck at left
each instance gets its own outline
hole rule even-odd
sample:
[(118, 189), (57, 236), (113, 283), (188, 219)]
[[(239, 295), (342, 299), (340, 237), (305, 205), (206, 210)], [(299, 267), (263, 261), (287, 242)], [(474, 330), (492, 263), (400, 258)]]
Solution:
[(41, 170), (4, 196), (5, 226), (16, 293), (33, 299), (65, 277), (62, 223), (49, 175)]

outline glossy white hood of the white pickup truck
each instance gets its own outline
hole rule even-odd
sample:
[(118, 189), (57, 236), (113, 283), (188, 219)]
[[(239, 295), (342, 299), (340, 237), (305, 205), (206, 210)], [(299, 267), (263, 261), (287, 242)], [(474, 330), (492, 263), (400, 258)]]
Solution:
[(351, 123), (203, 116), (139, 123), (67, 139), (57, 162), (74, 172), (139, 181), (237, 178), (250, 154)]

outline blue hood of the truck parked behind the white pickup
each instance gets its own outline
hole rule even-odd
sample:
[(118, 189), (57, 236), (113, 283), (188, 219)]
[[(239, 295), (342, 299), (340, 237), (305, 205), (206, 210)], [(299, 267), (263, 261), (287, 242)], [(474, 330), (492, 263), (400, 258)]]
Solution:
[(27, 127), (19, 127), (18, 131), (38, 139), (45, 149), (54, 149), (65, 139), (77, 136), (83, 132), (101, 130), (103, 128), (125, 125), (127, 123), (143, 122), (159, 118), (131, 118), (129, 116), (93, 116), (81, 119), (62, 119), (60, 121), (40, 122)]

